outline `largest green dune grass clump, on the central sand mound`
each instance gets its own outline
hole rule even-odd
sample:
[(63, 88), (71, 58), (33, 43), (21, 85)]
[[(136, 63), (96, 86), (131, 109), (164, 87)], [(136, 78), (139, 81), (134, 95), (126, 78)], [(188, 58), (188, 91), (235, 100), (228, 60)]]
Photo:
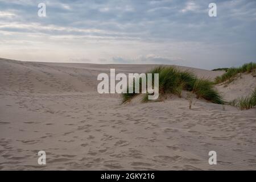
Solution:
[[(197, 98), (204, 98), (207, 101), (224, 104), (222, 97), (214, 89), (213, 82), (203, 78), (197, 78), (193, 73), (187, 71), (178, 71), (174, 67), (155, 67), (148, 71), (152, 73), (152, 80), (154, 80), (154, 73), (159, 73), (159, 95), (176, 94), (181, 97), (182, 90), (195, 93)], [(140, 82), (141, 84), (141, 82)], [(154, 85), (154, 83), (153, 83)], [(141, 90), (140, 90), (141, 91)], [(126, 102), (136, 96), (135, 93), (123, 93), (123, 102)], [(147, 101), (147, 94), (143, 97), (143, 102)]]

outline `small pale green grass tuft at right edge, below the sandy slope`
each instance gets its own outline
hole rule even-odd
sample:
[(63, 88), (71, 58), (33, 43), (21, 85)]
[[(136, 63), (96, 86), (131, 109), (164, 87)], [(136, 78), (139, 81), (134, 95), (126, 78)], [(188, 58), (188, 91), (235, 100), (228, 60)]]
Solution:
[(236, 106), (241, 110), (251, 109), (256, 106), (256, 88), (250, 96), (240, 97), (229, 103), (232, 106)]

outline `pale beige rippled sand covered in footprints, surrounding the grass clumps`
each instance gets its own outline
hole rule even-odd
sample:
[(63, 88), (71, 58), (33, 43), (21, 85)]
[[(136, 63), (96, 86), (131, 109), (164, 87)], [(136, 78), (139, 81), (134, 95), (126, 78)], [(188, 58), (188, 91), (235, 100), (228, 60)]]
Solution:
[[(122, 104), (119, 94), (97, 93), (99, 73), (155, 66), (0, 59), (0, 169), (255, 169), (255, 108), (194, 98), (189, 109), (183, 95)], [(212, 81), (225, 73), (174, 67)], [(244, 73), (216, 89), (232, 101), (255, 86)], [(40, 150), (45, 166), (37, 163)], [(211, 150), (217, 165), (208, 163)]]

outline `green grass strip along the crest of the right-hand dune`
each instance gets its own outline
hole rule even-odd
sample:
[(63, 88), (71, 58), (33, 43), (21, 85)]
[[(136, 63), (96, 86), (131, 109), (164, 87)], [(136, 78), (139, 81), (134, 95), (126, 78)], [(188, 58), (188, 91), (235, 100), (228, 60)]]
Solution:
[(255, 69), (256, 69), (256, 63), (252, 63), (252, 62), (243, 64), (241, 67), (238, 67), (238, 68), (229, 68), (226, 71), (226, 73), (224, 73), (221, 76), (217, 76), (215, 78), (215, 83), (219, 84), (226, 80), (233, 81), (234, 77), (236, 77), (238, 73), (251, 73), (251, 72), (255, 72)]

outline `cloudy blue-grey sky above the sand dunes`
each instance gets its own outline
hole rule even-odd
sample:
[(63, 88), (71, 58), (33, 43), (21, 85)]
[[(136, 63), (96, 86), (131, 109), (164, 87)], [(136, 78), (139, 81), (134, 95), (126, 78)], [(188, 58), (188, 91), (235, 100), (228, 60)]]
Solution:
[(255, 0), (0, 0), (7, 59), (214, 69), (256, 62), (255, 35)]

